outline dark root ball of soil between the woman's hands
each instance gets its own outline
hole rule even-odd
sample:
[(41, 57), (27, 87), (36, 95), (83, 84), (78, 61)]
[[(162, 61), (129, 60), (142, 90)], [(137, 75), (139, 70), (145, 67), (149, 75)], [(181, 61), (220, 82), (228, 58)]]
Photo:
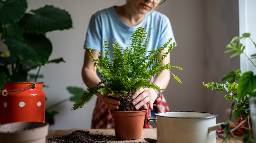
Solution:
[(132, 104), (132, 97), (135, 92), (135, 90), (130, 91), (125, 96), (118, 97), (117, 100), (120, 101), (121, 104), (118, 106), (116, 111), (138, 111), (135, 109), (135, 105)]

